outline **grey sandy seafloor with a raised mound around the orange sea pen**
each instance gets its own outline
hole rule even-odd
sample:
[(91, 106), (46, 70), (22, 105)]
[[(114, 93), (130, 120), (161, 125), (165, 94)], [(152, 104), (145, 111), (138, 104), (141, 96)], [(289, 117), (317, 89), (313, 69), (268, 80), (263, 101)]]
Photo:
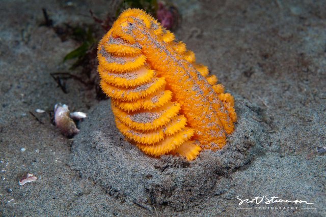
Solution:
[[(0, 2), (1, 215), (326, 216), (324, 1), (175, 5), (177, 39), (235, 96), (239, 118), (225, 148), (191, 163), (145, 156), (116, 130), (110, 101), (75, 80), (64, 94), (50, 77), (78, 45), (40, 26), (41, 8), (55, 25), (92, 23), (89, 9), (104, 16), (111, 1)], [(35, 112), (58, 102), (89, 115), (73, 139)], [(28, 172), (38, 179), (20, 186)], [(313, 204), (237, 199), (264, 195)]]

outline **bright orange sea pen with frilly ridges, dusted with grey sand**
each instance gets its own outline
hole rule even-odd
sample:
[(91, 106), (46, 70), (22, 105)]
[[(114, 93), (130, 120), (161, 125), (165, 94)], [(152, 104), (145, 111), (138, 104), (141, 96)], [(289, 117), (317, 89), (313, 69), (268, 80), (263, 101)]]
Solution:
[(234, 99), (193, 51), (150, 15), (124, 11), (98, 46), (101, 87), (117, 128), (151, 156), (195, 159), (234, 131)]

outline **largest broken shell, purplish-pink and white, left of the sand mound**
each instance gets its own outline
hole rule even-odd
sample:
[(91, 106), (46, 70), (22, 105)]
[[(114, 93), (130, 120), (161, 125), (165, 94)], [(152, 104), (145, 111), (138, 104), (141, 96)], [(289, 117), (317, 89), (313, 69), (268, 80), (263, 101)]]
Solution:
[(55, 105), (55, 122), (56, 126), (61, 130), (61, 133), (67, 137), (71, 137), (79, 130), (76, 127), (75, 122), (69, 116), (69, 108), (65, 104), (58, 103)]

